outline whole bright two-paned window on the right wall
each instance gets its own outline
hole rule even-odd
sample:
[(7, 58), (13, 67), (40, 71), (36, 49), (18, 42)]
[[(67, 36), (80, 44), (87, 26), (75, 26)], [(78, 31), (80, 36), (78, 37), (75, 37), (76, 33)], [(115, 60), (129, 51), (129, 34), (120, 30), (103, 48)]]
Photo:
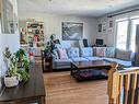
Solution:
[(116, 21), (117, 35), (116, 48), (136, 50), (136, 26), (139, 18), (130, 18)]

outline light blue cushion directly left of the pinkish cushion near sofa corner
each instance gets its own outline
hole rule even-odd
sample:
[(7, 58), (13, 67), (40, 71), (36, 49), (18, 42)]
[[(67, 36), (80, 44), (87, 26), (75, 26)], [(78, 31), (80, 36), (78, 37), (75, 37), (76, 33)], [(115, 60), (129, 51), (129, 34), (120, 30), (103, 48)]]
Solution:
[(91, 47), (82, 47), (80, 49), (81, 57), (90, 57), (93, 56), (93, 48)]

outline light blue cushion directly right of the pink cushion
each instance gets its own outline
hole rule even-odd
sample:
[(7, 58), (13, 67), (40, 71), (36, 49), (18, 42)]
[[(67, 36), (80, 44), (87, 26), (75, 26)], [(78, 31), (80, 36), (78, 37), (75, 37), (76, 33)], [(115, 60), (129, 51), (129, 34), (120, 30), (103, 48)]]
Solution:
[(79, 48), (69, 48), (67, 53), (69, 58), (79, 57)]

